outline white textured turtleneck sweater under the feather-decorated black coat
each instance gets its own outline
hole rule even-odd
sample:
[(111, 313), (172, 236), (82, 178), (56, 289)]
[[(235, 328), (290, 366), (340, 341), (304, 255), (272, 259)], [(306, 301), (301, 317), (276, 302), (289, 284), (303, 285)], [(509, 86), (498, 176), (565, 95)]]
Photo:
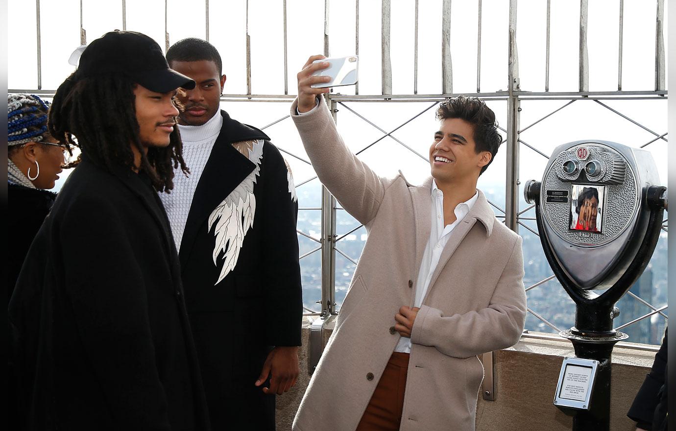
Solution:
[(183, 238), (185, 222), (188, 220), (199, 177), (207, 164), (222, 125), (223, 117), (220, 111), (217, 111), (216, 115), (202, 126), (178, 125), (180, 138), (183, 141), (183, 160), (190, 168), (190, 176), (183, 174), (180, 168), (174, 170), (174, 190), (169, 194), (160, 193), (160, 199), (167, 211), (172, 234), (174, 234), (176, 250), (180, 250), (180, 240)]

